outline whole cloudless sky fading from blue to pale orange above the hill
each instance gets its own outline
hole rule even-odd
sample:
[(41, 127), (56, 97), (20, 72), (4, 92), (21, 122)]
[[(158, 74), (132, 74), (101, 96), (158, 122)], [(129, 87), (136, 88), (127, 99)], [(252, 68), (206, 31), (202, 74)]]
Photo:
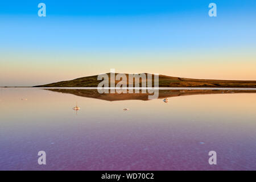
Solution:
[[(46, 3), (46, 17), (38, 3)], [(217, 17), (208, 5), (217, 5)], [(110, 72), (256, 80), (256, 2), (1, 1), (0, 86)]]

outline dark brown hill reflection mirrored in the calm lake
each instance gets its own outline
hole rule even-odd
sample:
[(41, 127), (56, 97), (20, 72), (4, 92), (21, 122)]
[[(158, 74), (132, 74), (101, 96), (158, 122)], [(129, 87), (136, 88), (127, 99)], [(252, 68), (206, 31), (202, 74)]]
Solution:
[[(148, 100), (148, 93), (98, 93), (97, 90), (85, 89), (46, 89), (53, 92), (70, 93), (76, 96), (98, 98), (106, 101)], [(159, 90), (159, 98), (189, 96), (195, 94), (217, 93), (256, 93), (256, 90)]]

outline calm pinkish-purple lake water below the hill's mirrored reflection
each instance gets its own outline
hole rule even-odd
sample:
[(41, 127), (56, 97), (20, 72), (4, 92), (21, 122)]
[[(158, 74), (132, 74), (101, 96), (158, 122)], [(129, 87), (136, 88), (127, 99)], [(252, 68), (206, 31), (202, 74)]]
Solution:
[(256, 170), (256, 94), (110, 102), (0, 88), (0, 169)]

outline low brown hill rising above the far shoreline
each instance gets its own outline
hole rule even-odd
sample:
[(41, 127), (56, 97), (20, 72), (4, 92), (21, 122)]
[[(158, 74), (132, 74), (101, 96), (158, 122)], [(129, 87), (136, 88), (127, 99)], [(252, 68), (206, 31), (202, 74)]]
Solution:
[[(117, 75), (118, 73), (115, 73)], [(146, 76), (150, 73), (145, 73)], [(110, 86), (110, 73), (109, 86)], [(128, 74), (127, 86), (129, 85)], [(76, 78), (75, 80), (60, 81), (52, 84), (38, 85), (36, 87), (97, 87), (101, 80), (97, 80), (98, 75)], [(147, 80), (151, 81), (151, 80)], [(119, 80), (115, 80), (117, 84)], [(142, 79), (139, 80), (140, 86), (142, 86)], [(152, 86), (154, 86), (154, 75), (152, 76)], [(193, 79), (193, 78), (180, 78), (159, 75), (159, 87), (212, 87), (212, 88), (256, 88), (256, 81), (242, 81), (242, 80), (205, 80), (205, 79)]]

